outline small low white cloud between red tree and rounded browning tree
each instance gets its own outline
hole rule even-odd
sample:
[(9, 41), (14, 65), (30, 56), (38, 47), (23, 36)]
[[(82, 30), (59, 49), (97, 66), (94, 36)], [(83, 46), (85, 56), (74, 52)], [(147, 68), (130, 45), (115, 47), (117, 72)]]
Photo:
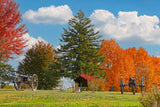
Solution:
[[(28, 49), (32, 48), (32, 46), (34, 46), (36, 43), (38, 43), (38, 41), (43, 41), (43, 42), (47, 43), (47, 41), (45, 41), (43, 38), (41, 38), (41, 37), (34, 38), (34, 37), (30, 36), (28, 33), (24, 34), (23, 38), (25, 40), (27, 40), (26, 47), (24, 48), (24, 54), (27, 52)], [(15, 57), (14, 60), (16, 60), (16, 61), (23, 60), (25, 58), (24, 54)]]

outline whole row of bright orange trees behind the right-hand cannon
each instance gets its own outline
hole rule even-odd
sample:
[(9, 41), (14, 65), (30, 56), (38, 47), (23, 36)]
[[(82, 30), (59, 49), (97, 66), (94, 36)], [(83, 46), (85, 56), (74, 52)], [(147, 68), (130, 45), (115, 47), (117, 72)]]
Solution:
[[(160, 60), (148, 55), (144, 48), (137, 50), (133, 47), (124, 50), (114, 40), (104, 40), (101, 45), (100, 53), (106, 57), (102, 66), (105, 67), (104, 72), (107, 75), (107, 90), (114, 87), (115, 91), (120, 91), (121, 76), (126, 84), (130, 77), (136, 79), (136, 84), (140, 84), (143, 77), (146, 89), (152, 86), (153, 81), (158, 82)], [(125, 91), (129, 90), (129, 87), (125, 87)], [(140, 91), (140, 88), (137, 88), (137, 91)]]

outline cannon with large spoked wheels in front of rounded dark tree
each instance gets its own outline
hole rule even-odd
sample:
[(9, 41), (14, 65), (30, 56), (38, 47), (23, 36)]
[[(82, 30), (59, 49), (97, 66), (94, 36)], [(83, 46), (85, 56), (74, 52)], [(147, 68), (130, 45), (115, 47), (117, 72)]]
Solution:
[(33, 74), (33, 76), (16, 75), (14, 78), (14, 87), (16, 90), (21, 90), (21, 84), (28, 84), (32, 91), (36, 91), (38, 87), (38, 76)]

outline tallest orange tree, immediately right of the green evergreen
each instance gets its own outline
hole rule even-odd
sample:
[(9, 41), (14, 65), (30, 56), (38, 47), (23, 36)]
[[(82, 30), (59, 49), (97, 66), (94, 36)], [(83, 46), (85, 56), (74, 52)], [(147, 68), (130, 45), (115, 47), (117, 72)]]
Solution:
[(106, 73), (106, 90), (110, 90), (110, 87), (118, 85), (119, 71), (115, 68), (118, 65), (118, 61), (121, 59), (122, 49), (118, 43), (114, 40), (104, 40), (102, 43), (100, 53), (105, 56), (105, 63), (102, 64), (104, 72)]

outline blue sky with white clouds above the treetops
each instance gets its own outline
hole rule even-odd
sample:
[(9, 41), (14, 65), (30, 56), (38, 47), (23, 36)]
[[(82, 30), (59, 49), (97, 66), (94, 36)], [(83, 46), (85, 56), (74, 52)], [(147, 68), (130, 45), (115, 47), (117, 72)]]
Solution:
[(81, 9), (102, 39), (115, 39), (124, 49), (143, 47), (150, 55), (160, 56), (159, 0), (15, 1), (29, 30), (25, 36), (30, 38), (30, 45), (44, 40), (59, 46), (63, 27)]

